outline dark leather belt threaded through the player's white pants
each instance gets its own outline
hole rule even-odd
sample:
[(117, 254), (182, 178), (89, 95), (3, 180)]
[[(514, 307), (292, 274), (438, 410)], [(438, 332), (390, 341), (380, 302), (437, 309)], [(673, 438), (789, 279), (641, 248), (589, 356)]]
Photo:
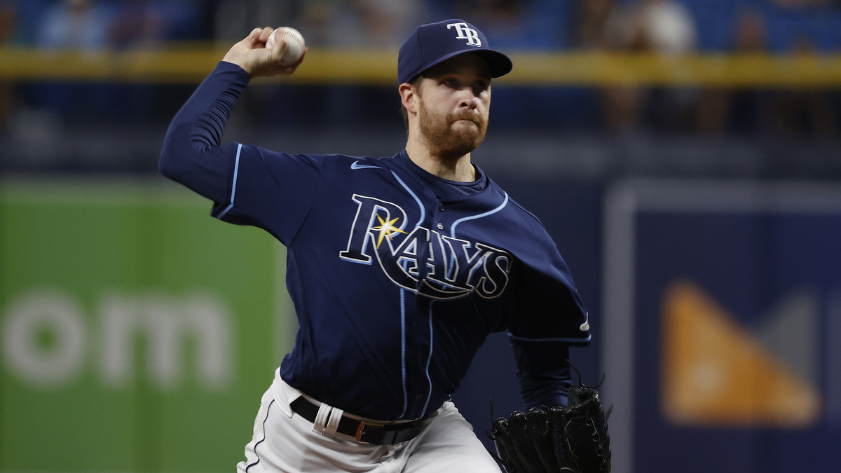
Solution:
[[(299, 416), (304, 417), (311, 423), (315, 423), (315, 416), (318, 415), (319, 407), (304, 398), (304, 396), (292, 401), (289, 407), (292, 407), (292, 410)], [(336, 432), (350, 435), (362, 444), (394, 445), (417, 437), (417, 434), (423, 430), (421, 423), (424, 420), (426, 419), (421, 418), (407, 423), (383, 425), (379, 423), (368, 423), (342, 415)]]

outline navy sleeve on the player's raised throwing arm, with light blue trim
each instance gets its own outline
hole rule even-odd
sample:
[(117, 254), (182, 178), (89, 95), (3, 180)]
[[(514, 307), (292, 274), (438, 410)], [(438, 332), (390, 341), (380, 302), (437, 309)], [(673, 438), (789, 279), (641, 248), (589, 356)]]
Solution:
[(220, 144), (230, 109), (250, 78), (241, 67), (220, 62), (172, 120), (159, 167), (211, 199), (214, 217), (259, 226), (288, 245), (315, 200), (324, 157)]

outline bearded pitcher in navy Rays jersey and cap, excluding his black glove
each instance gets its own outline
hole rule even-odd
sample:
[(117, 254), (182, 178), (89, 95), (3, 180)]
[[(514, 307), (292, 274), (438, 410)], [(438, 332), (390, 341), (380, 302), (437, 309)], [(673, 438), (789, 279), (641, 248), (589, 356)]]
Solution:
[(172, 120), (160, 160), (213, 200), (214, 217), (288, 248), (300, 330), (237, 470), (499, 471), (449, 400), (473, 355), (508, 331), (526, 407), (563, 406), (568, 346), (590, 341), (552, 239), (471, 162), (510, 59), (460, 19), (415, 29), (399, 50), (409, 134), (394, 156), (223, 145), (251, 77), (304, 61), (279, 66), (286, 45), (265, 48), (271, 33), (228, 51)]

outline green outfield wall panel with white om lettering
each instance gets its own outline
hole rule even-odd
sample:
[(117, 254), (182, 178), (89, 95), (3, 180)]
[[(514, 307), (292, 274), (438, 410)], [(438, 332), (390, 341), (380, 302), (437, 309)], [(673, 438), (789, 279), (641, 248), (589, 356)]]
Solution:
[(0, 472), (231, 471), (294, 339), (284, 248), (164, 179), (0, 183)]

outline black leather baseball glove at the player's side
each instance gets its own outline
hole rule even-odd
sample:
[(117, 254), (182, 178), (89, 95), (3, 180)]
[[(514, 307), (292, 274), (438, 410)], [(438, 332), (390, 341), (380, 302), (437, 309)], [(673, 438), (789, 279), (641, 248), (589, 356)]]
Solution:
[(605, 413), (599, 393), (581, 383), (580, 373), (579, 385), (569, 388), (568, 404), (532, 407), (495, 421), (491, 406), (489, 437), (508, 473), (610, 473), (607, 417), (613, 406)]

